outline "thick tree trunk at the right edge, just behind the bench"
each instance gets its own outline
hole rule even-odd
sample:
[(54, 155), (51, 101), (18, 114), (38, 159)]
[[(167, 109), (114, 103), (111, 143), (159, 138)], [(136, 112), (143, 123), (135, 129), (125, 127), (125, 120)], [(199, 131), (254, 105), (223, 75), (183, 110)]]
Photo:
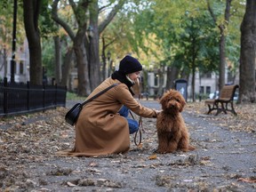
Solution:
[(246, 1), (246, 11), (241, 24), (240, 88), (241, 103), (255, 102), (256, 59), (256, 1)]

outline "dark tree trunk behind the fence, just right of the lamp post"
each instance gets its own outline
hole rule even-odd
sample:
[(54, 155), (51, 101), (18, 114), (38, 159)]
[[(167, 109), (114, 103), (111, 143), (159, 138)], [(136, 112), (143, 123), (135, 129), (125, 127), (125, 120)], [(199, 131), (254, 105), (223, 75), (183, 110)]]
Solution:
[(31, 84), (43, 83), (42, 50), (38, 16), (41, 0), (23, 0), (24, 25), (28, 38), (29, 76)]

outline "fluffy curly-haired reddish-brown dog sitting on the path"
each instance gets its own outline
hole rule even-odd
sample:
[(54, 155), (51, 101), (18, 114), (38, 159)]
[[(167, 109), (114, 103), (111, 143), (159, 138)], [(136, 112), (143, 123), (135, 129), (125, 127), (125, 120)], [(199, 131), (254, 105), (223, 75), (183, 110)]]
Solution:
[(180, 112), (186, 101), (180, 92), (169, 90), (160, 99), (163, 111), (157, 115), (157, 153), (172, 153), (176, 150), (187, 152), (195, 148), (189, 145), (188, 129)]

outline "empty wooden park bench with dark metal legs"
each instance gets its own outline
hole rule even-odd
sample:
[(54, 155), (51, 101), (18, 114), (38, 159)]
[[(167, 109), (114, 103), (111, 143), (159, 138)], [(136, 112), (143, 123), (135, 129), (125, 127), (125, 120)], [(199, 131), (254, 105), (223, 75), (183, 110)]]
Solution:
[[(221, 91), (218, 99), (213, 100), (205, 100), (204, 104), (208, 106), (209, 110), (207, 114), (210, 114), (212, 110), (217, 110), (215, 116), (220, 114), (222, 111), (227, 114), (227, 111), (230, 111), (235, 116), (237, 116), (236, 111), (234, 109), (233, 100), (236, 92), (236, 88), (239, 85), (225, 85)], [(230, 108), (228, 108), (228, 104), (230, 104)]]

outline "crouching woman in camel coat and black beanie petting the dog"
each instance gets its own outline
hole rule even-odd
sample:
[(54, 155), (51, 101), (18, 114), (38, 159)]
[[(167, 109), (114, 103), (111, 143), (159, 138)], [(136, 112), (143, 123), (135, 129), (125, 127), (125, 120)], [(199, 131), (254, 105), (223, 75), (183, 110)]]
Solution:
[[(127, 119), (127, 108), (138, 116), (156, 118), (158, 111), (141, 106), (133, 98), (132, 86), (140, 78), (139, 60), (125, 56), (119, 69), (103, 81), (87, 99), (111, 84), (115, 87), (87, 103), (77, 119), (75, 147), (59, 154), (67, 156), (101, 156), (125, 153), (130, 148), (130, 133), (136, 132), (138, 123)], [(126, 110), (126, 116), (119, 111)]]

